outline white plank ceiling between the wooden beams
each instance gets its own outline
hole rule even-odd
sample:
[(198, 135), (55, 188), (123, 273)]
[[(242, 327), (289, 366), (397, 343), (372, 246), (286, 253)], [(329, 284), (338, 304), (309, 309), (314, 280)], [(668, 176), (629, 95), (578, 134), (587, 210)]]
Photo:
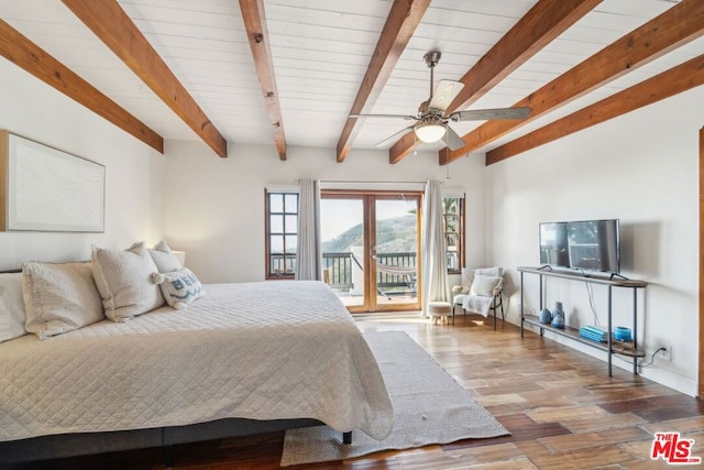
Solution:
[[(415, 114), (429, 95), (422, 56), (441, 51), (436, 80), (459, 80), (537, 0), (433, 0), (372, 112)], [(470, 109), (508, 107), (678, 2), (604, 0)], [(230, 143), (273, 145), (252, 52), (237, 0), (119, 0), (174, 75)], [(392, 1), (265, 0), (288, 145), (334, 150)], [(0, 0), (0, 18), (165, 139), (197, 135), (59, 0)], [(695, 40), (512, 132), (491, 150), (558, 117), (704, 53)], [(701, 105), (701, 103), (700, 103)], [(481, 122), (452, 123), (463, 135)], [(364, 119), (352, 149), (408, 125)], [(442, 145), (424, 144), (419, 150)]]

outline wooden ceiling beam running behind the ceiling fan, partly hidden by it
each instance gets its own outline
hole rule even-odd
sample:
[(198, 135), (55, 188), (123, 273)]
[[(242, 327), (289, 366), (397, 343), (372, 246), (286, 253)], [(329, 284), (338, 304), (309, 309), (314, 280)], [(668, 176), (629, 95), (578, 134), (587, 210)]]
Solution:
[[(592, 11), (602, 0), (540, 0), (460, 79), (462, 90), (446, 114), (464, 109)], [(409, 155), (419, 142), (410, 131), (388, 151), (391, 164)]]

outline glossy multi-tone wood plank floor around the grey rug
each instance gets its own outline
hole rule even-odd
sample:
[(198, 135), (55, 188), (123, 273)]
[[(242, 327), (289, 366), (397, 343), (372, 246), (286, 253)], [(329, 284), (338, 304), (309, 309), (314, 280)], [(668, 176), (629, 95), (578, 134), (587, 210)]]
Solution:
[[(416, 318), (364, 317), (363, 331), (402, 330), (418, 341), (512, 433), (356, 460), (288, 469), (661, 469), (650, 460), (656, 431), (694, 439), (704, 457), (704, 404), (528, 332), (474, 315), (454, 325)], [(618, 361), (618, 359), (615, 359)], [(283, 434), (224, 439), (174, 449), (178, 469), (278, 469)], [(163, 450), (89, 456), (15, 468), (163, 469)]]

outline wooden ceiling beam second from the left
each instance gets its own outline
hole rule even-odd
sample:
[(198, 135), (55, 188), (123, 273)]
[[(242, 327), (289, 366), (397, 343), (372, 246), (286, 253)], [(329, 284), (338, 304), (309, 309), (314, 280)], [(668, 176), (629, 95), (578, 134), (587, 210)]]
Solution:
[(228, 142), (114, 0), (62, 0), (219, 156)]

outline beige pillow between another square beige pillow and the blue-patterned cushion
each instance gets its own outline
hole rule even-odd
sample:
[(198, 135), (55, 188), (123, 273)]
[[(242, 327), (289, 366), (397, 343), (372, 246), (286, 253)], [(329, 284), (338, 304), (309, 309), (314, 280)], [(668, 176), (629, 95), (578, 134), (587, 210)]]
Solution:
[(106, 317), (127, 321), (164, 305), (164, 296), (151, 275), (156, 270), (143, 242), (128, 250), (92, 249), (92, 274), (102, 297)]

